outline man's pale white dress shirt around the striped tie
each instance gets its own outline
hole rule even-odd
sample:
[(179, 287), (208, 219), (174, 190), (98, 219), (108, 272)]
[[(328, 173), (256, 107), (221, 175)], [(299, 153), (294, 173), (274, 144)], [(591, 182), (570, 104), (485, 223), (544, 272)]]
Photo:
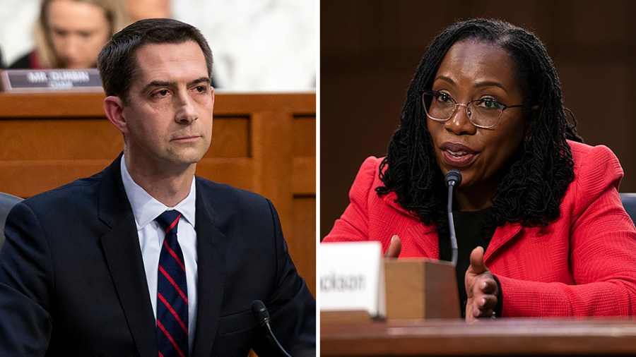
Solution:
[(181, 212), (177, 226), (177, 239), (183, 251), (184, 264), (186, 267), (186, 279), (188, 284), (188, 339), (189, 350), (192, 351), (194, 341), (194, 327), (196, 326), (196, 231), (194, 230), (194, 200), (196, 198), (196, 188), (194, 177), (192, 186), (187, 198), (179, 202), (175, 207), (167, 207), (163, 203), (155, 200), (146, 190), (143, 190), (130, 176), (126, 168), (125, 157), (122, 156), (122, 181), (124, 189), (130, 201), (135, 222), (137, 224), (137, 235), (139, 236), (139, 246), (143, 256), (143, 267), (146, 270), (146, 280), (148, 281), (148, 294), (150, 294), (153, 304), (155, 320), (157, 318), (157, 279), (159, 255), (161, 246), (165, 238), (165, 232), (155, 222), (155, 218), (167, 210), (177, 210)]

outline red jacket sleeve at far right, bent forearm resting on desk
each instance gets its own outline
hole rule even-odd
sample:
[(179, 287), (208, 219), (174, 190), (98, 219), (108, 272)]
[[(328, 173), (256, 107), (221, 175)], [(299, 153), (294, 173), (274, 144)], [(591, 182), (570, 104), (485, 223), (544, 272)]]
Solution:
[(566, 223), (555, 223), (550, 238), (569, 240), (563, 258), (574, 284), (497, 275), (504, 316), (636, 314), (636, 231), (618, 195), (623, 169), (604, 146), (577, 155), (575, 181), (560, 206)]

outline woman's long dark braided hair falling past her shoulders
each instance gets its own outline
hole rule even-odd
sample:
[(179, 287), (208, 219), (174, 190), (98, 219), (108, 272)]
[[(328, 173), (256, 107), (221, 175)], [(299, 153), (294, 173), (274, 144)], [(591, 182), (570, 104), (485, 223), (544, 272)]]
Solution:
[(447, 189), (435, 159), (420, 93), (432, 88), (444, 56), (461, 40), (477, 40), (505, 49), (516, 65), (524, 104), (536, 109), (525, 112), (529, 122), (524, 141), (497, 186), (484, 226), (507, 222), (545, 226), (559, 217), (560, 201), (574, 178), (572, 152), (566, 140), (582, 139), (576, 133), (574, 116), (572, 124), (567, 121), (559, 78), (541, 40), (528, 30), (501, 20), (455, 23), (431, 42), (411, 80), (400, 126), (380, 164), (379, 178), (384, 186), (375, 190), (378, 195), (394, 191), (401, 207), (417, 214), (426, 224), (436, 224), (440, 234), (447, 233)]

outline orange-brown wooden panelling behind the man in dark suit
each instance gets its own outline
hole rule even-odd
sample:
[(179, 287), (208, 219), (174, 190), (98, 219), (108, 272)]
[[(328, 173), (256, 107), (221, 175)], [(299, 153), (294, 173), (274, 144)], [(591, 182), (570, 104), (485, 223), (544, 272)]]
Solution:
[[(103, 93), (0, 93), (0, 191), (27, 198), (101, 171), (123, 149)], [(315, 294), (316, 96), (217, 92), (196, 174), (269, 198)], [(248, 262), (246, 262), (248, 263)]]

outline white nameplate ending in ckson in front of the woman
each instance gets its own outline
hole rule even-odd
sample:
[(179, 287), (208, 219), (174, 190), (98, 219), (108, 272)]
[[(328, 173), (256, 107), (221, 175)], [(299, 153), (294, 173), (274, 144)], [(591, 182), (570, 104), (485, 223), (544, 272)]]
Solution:
[(320, 310), (385, 316), (384, 267), (379, 242), (322, 243)]

